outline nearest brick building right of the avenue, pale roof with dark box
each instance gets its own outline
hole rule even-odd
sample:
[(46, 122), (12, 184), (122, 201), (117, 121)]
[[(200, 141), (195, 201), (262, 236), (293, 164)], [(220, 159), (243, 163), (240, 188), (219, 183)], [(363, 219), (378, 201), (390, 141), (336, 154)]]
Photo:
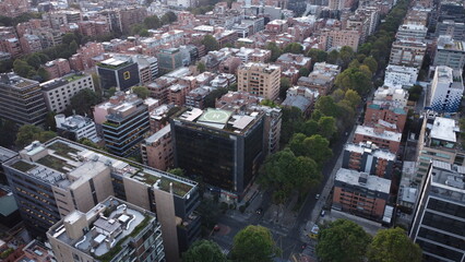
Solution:
[(332, 209), (381, 221), (389, 201), (391, 180), (339, 168), (334, 179)]

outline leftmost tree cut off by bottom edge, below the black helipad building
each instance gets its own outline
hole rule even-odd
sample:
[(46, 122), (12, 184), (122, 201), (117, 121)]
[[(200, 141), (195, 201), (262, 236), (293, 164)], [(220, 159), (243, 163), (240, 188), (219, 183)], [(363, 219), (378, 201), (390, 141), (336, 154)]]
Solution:
[(226, 262), (226, 255), (217, 243), (198, 240), (182, 254), (182, 262)]

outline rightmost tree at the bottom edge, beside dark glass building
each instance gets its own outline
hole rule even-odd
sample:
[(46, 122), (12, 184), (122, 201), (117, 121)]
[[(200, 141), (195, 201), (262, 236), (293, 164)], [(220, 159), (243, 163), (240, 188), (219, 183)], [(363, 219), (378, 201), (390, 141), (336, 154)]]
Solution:
[(367, 257), (369, 262), (420, 262), (421, 249), (404, 229), (396, 227), (379, 230), (368, 246)]

